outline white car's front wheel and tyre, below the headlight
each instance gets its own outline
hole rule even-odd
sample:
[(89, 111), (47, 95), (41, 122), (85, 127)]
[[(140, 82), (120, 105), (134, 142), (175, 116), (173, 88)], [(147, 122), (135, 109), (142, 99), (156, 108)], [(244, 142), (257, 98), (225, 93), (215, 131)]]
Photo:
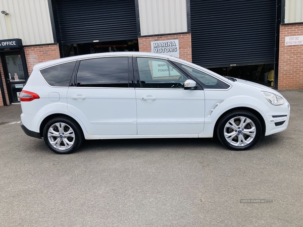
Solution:
[(262, 126), (259, 119), (245, 110), (227, 113), (217, 128), (220, 142), (231, 150), (246, 150), (254, 146), (261, 134)]

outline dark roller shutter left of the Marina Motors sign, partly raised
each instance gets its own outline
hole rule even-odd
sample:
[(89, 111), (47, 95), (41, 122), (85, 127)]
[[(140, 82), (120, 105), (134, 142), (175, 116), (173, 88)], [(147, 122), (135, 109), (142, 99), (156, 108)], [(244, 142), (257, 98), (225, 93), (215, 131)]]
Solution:
[(61, 44), (138, 38), (134, 0), (56, 0)]

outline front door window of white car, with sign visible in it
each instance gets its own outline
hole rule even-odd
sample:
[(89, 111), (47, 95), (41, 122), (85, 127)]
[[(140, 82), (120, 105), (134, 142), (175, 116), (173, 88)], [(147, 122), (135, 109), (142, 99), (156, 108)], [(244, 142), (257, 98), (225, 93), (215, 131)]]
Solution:
[(183, 88), (188, 79), (167, 60), (137, 58), (142, 88)]

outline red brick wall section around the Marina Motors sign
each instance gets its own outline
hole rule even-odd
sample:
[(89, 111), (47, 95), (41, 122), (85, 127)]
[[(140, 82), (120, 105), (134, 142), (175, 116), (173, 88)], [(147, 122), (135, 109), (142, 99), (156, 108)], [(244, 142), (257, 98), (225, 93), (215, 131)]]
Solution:
[(179, 58), (191, 62), (191, 34), (173, 34), (161, 36), (139, 37), (139, 50), (143, 52), (151, 52), (150, 42), (162, 40), (179, 40)]

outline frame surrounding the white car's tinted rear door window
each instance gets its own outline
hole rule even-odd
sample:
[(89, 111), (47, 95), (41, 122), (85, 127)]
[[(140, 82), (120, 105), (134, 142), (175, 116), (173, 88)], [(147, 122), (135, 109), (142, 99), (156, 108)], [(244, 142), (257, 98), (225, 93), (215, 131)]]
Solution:
[[(80, 67), (81, 61), (86, 60), (92, 60), (92, 59), (104, 59), (104, 58), (127, 58), (128, 62), (128, 87), (95, 87), (95, 86), (77, 86), (77, 74)], [(133, 63), (132, 63), (132, 57), (128, 55), (114, 55), (114, 56), (97, 56), (94, 58), (84, 58), (84, 59), (78, 59), (76, 63), (76, 67), (72, 76), (73, 84), (71, 83), (71, 86), (78, 87), (78, 88), (102, 88), (102, 89), (129, 89), (134, 88), (134, 73), (133, 73)]]

